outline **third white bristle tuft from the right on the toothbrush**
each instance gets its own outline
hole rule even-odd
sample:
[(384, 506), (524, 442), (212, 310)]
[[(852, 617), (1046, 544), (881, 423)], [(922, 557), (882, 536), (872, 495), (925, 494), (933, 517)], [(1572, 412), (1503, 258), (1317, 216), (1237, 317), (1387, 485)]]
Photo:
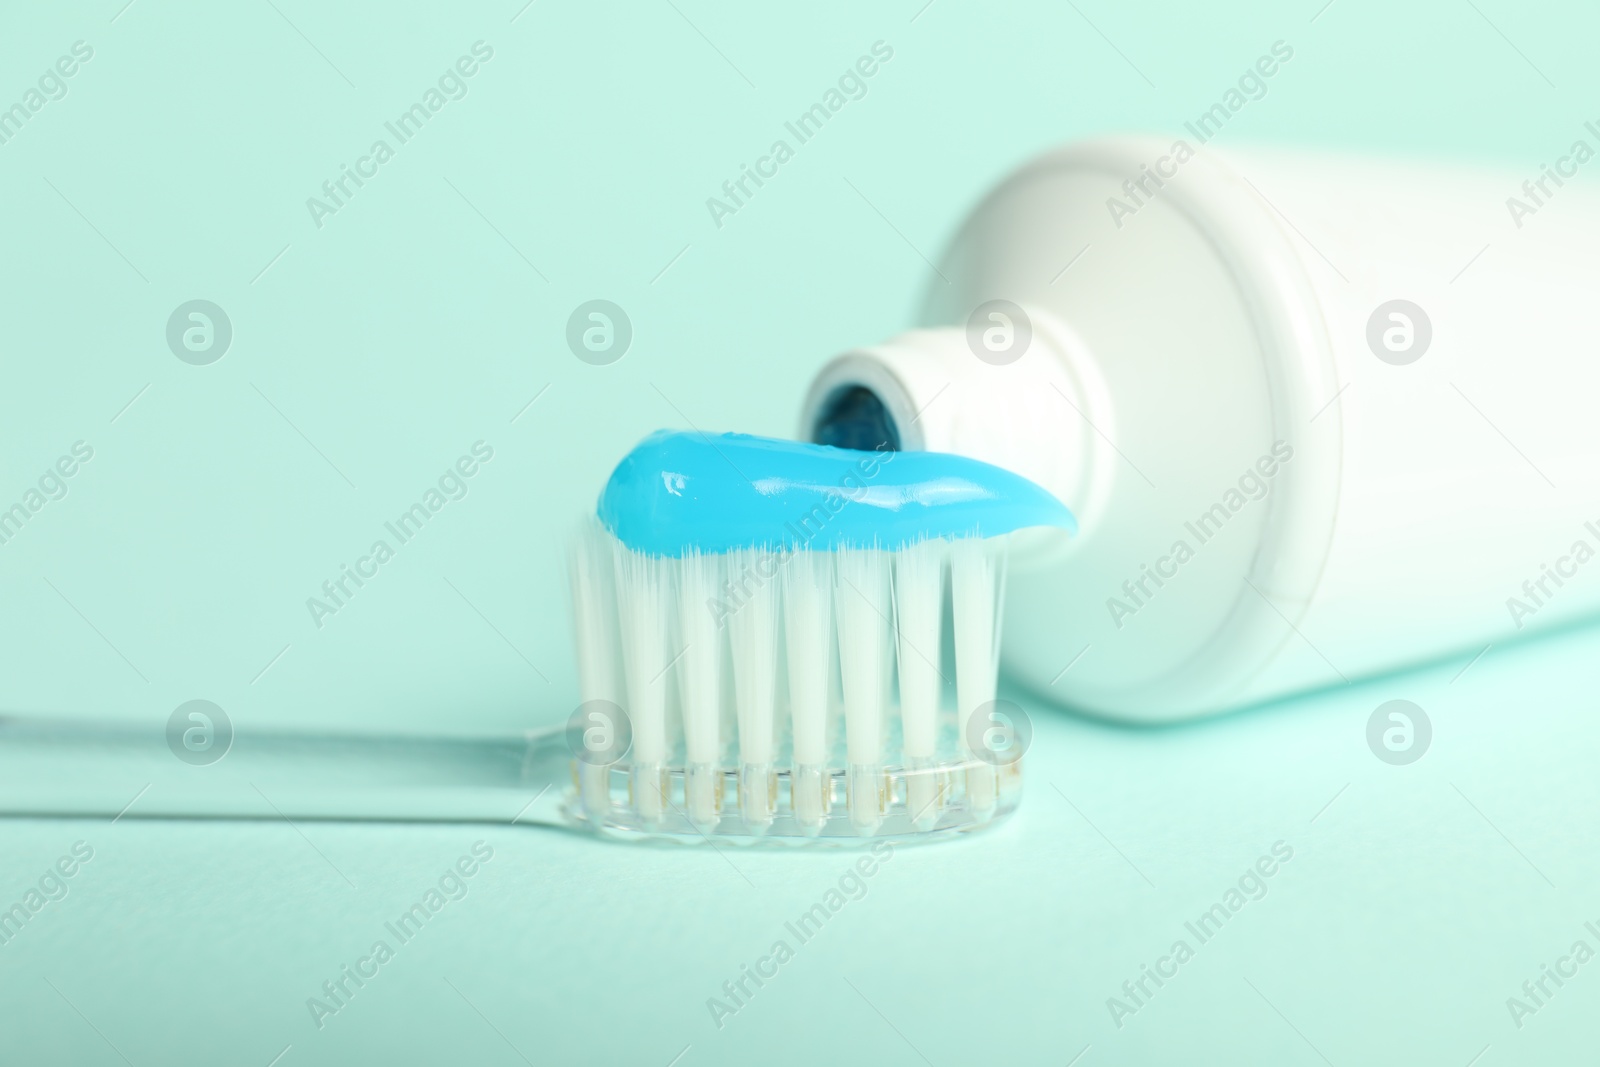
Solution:
[(890, 553), (840, 549), (838, 673), (845, 688), (850, 821), (872, 833), (883, 821), (883, 725), (890, 691)]

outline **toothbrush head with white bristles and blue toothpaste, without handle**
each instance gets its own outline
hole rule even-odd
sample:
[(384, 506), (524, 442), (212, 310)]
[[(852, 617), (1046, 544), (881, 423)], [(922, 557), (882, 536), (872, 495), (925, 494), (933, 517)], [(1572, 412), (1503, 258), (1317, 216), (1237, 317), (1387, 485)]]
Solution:
[(579, 710), (621, 712), (629, 739), (579, 752), (574, 817), (760, 840), (1008, 813), (1019, 752), (986, 750), (995, 723), (979, 717), (998, 670), (997, 539), (1032, 526), (1077, 522), (965, 456), (650, 435), (573, 552)]

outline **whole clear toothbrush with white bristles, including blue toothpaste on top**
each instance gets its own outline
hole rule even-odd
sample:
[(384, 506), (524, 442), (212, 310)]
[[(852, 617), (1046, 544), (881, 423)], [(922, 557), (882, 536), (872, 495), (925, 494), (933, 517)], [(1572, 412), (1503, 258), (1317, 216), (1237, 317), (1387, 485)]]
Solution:
[(731, 843), (979, 829), (1019, 800), (1019, 765), (971, 723), (995, 693), (1005, 542), (1027, 526), (1075, 520), (973, 459), (661, 432), (573, 545), (582, 704), (566, 725), (235, 737), (206, 721), (218, 747), (197, 757), (171, 725), (0, 715), (0, 816)]

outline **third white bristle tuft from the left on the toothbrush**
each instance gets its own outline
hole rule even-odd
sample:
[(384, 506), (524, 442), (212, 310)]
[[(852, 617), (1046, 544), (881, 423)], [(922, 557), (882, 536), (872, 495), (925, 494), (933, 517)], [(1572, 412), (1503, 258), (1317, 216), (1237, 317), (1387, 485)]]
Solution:
[(677, 560), (678, 691), (683, 704), (685, 793), (690, 819), (717, 822), (722, 798), (723, 638), (717, 603), (723, 557), (688, 550)]

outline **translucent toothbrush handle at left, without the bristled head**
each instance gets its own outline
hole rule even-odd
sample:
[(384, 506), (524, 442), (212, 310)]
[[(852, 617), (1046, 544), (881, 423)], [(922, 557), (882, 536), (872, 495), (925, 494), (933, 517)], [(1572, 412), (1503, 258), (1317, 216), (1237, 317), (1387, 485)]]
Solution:
[(498, 737), (250, 733), (210, 763), (198, 761), (210, 753), (186, 760), (176, 750), (149, 728), (0, 717), (0, 817), (568, 825), (565, 728)]

